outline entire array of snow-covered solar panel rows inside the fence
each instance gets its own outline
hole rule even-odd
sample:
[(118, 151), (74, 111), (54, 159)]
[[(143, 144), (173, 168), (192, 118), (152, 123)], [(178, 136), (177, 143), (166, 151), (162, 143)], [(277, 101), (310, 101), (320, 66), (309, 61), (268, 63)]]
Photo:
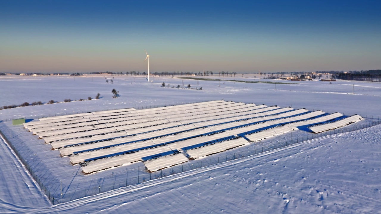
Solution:
[(137, 161), (153, 172), (301, 126), (318, 133), (361, 119), (219, 100), (62, 115), (24, 126), (90, 174)]

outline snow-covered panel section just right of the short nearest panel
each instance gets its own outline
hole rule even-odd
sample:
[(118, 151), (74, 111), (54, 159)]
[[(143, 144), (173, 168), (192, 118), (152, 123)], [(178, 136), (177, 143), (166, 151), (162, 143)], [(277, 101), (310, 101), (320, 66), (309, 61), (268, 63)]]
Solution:
[(187, 153), (189, 156), (191, 156), (193, 159), (200, 158), (203, 156), (219, 153), (226, 151), (228, 149), (232, 149), (235, 147), (239, 147), (241, 145), (247, 144), (248, 141), (243, 139), (242, 137), (237, 139), (232, 139), (228, 141), (218, 142), (211, 145), (205, 145), (203, 147), (199, 147), (196, 149), (187, 150)]

